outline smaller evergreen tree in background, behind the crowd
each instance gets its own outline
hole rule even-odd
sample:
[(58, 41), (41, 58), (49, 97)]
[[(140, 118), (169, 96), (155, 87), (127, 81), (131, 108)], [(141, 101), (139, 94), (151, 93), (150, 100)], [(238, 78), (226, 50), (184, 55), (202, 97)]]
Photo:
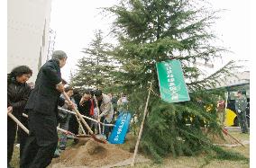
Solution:
[(85, 56), (78, 60), (78, 71), (72, 75), (71, 85), (80, 88), (99, 88), (113, 84), (111, 71), (114, 60), (107, 56), (111, 45), (104, 43), (102, 31), (96, 31), (95, 40), (83, 49)]

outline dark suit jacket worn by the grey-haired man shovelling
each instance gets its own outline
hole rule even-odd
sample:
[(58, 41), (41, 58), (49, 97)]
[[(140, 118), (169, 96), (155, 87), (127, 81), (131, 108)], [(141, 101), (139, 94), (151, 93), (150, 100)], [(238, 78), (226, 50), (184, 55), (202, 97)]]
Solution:
[(58, 105), (63, 106), (65, 102), (59, 97), (60, 93), (56, 89), (56, 84), (60, 82), (59, 62), (51, 59), (41, 66), (25, 109), (51, 116), (57, 115)]

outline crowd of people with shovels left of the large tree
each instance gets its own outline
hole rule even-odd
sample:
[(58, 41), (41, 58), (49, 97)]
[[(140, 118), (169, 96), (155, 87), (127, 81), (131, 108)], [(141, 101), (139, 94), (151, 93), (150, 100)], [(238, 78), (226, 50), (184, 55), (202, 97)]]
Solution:
[[(64, 51), (54, 51), (52, 59), (41, 66), (35, 84), (27, 83), (32, 76), (29, 66), (17, 66), (8, 74), (7, 113), (20, 120), (29, 129), (29, 134), (20, 127), (17, 131), (17, 124), (7, 117), (7, 167), (12, 167), (10, 162), (16, 132), (20, 144), (20, 167), (44, 168), (56, 156), (56, 151), (65, 150), (67, 146), (67, 134), (58, 134), (57, 127), (76, 135), (79, 131), (89, 134), (78, 116), (65, 110), (77, 109), (84, 116), (110, 124), (114, 122), (114, 116), (118, 115), (117, 111), (122, 111), (118, 107), (123, 108), (123, 104), (127, 103), (124, 94), (118, 100), (116, 95), (105, 94), (101, 90), (86, 90), (81, 93), (70, 87), (60, 73), (67, 58)], [(64, 93), (71, 102), (65, 99)], [(105, 135), (107, 140), (111, 127), (99, 125), (89, 119), (87, 124), (96, 134)], [(75, 138), (74, 143), (78, 143), (78, 139)]]

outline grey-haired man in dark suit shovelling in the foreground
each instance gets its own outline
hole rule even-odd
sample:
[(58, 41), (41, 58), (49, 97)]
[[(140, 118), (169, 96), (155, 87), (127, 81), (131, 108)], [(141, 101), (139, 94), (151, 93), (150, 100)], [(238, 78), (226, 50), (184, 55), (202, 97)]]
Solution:
[[(65, 66), (66, 60), (65, 52), (54, 51), (52, 59), (41, 66), (37, 75), (35, 87), (25, 106), (29, 114), (30, 134), (23, 149), (21, 168), (47, 167), (54, 155), (58, 145), (58, 105), (65, 103), (59, 97), (64, 91), (60, 68)], [(74, 108), (73, 104), (69, 105)]]

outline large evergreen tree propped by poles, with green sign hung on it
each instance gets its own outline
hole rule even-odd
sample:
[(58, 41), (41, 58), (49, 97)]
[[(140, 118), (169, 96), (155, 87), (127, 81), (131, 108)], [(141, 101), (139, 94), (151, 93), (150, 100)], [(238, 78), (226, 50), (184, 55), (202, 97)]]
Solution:
[[(198, 2), (198, 1), (197, 1)], [(199, 1), (203, 3), (204, 1)], [(129, 93), (130, 111), (142, 119), (149, 82), (153, 81), (148, 116), (142, 134), (142, 150), (156, 161), (169, 153), (196, 155), (213, 150), (211, 140), (201, 127), (221, 136), (216, 121), (216, 97), (224, 93), (213, 88), (220, 75), (230, 75), (233, 62), (215, 74), (198, 80), (202, 72), (193, 63), (213, 61), (225, 49), (215, 47), (215, 34), (210, 30), (216, 12), (210, 12), (193, 0), (124, 0), (106, 8), (114, 13), (114, 35), (119, 45), (112, 55), (121, 64), (115, 80)], [(182, 63), (191, 101), (167, 103), (160, 100), (156, 62), (178, 59)], [(190, 124), (187, 126), (187, 124)], [(242, 158), (242, 157), (241, 157)]]

